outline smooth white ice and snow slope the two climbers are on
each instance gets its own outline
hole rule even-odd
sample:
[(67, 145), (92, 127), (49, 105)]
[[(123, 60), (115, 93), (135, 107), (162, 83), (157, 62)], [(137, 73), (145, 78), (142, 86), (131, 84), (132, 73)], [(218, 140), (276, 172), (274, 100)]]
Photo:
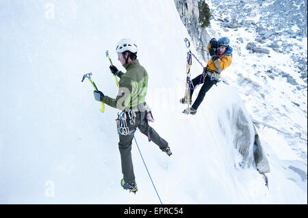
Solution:
[[(116, 95), (105, 51), (124, 70), (114, 51), (122, 38), (138, 43), (152, 126), (173, 152), (136, 133), (164, 204), (307, 204), (303, 164), (287, 146), (279, 154), (265, 146), (270, 191), (264, 185), (252, 159), (251, 118), (234, 87), (220, 83), (196, 115), (181, 113), (188, 33), (173, 1), (0, 1), (0, 29), (2, 204), (159, 204), (134, 142), (139, 191), (120, 187), (118, 111), (99, 112), (92, 85), (81, 83), (92, 72), (99, 90)], [(192, 75), (201, 71), (194, 62)], [(237, 114), (247, 126), (238, 137)], [(235, 141), (248, 144), (244, 165)], [(292, 169), (283, 155), (292, 156)]]

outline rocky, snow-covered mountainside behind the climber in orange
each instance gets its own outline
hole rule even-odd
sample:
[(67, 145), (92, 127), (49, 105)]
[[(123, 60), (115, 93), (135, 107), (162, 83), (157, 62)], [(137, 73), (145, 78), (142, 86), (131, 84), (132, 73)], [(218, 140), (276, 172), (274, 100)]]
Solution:
[(307, 163), (307, 2), (208, 2), (212, 36), (233, 42), (225, 80), (237, 86), (253, 119), (277, 126)]

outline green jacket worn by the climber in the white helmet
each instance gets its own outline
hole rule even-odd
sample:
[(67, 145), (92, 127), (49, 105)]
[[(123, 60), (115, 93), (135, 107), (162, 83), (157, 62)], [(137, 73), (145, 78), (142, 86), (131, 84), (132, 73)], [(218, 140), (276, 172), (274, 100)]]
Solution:
[(103, 97), (103, 103), (121, 111), (129, 110), (132, 107), (137, 107), (140, 103), (144, 103), (148, 88), (148, 73), (139, 64), (138, 59), (123, 66), (127, 72), (120, 71), (118, 73), (120, 81), (118, 81), (116, 99), (109, 96)]

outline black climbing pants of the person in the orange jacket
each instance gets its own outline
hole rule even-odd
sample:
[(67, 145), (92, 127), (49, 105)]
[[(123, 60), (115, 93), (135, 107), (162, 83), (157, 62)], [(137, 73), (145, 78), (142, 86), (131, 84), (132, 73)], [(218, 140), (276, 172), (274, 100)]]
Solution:
[[(193, 87), (196, 87), (196, 85), (198, 85), (199, 83), (203, 83), (203, 74), (198, 75), (198, 77), (192, 79), (192, 85)], [(215, 85), (216, 83), (218, 83), (218, 81), (216, 80), (211, 80), (211, 77), (207, 76), (205, 77), (204, 83), (201, 87), (200, 92), (198, 93), (198, 96), (196, 98), (196, 100), (194, 101), (194, 104), (192, 105), (193, 109), (198, 109), (199, 105), (202, 103), (203, 98), (205, 96), (205, 93), (207, 93), (207, 91), (209, 91), (209, 89)], [(192, 98), (192, 94), (194, 93), (194, 90), (190, 90), (190, 98)]]

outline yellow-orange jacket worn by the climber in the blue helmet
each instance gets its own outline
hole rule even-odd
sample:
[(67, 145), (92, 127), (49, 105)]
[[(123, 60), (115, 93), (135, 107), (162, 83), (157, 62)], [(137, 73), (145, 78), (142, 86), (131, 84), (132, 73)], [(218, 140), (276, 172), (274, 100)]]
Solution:
[[(207, 46), (207, 51), (209, 51), (209, 49), (211, 49), (211, 44)], [(232, 63), (232, 51), (232, 47), (228, 46), (227, 50), (224, 51), (218, 59), (213, 61), (213, 59), (210, 58), (209, 62), (207, 62), (207, 69), (215, 70), (218, 73), (222, 72), (222, 70), (226, 69)], [(219, 79), (219, 74), (216, 74), (215, 77)]]

